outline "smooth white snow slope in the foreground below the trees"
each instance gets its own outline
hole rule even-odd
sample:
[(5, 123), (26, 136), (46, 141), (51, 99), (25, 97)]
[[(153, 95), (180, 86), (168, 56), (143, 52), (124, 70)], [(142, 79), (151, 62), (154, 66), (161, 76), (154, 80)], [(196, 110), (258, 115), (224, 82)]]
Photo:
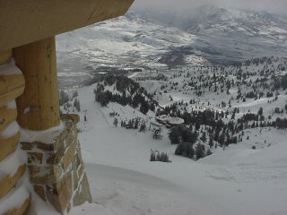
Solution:
[[(245, 136), (238, 145), (218, 148), (196, 162), (173, 155), (176, 146), (166, 134), (155, 141), (151, 132), (115, 127), (108, 113), (117, 105), (100, 107), (93, 87), (79, 90), (79, 139), (93, 202), (71, 214), (287, 214), (286, 131), (254, 129), (248, 141)], [(140, 116), (132, 108), (121, 109)], [(251, 150), (256, 141), (263, 147)], [(151, 149), (167, 152), (172, 163), (150, 162)]]

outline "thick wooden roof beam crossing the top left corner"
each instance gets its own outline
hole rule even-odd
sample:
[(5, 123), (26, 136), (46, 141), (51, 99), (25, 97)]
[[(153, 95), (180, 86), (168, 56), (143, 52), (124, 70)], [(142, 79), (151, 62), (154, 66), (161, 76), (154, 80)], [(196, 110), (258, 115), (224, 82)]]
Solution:
[(126, 13), (134, 0), (0, 0), (0, 51)]

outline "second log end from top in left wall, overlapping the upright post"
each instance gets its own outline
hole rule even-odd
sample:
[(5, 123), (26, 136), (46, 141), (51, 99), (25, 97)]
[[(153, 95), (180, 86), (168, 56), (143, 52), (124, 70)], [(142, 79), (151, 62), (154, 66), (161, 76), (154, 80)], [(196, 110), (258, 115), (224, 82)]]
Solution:
[(0, 73), (0, 107), (22, 95), (24, 88), (25, 80), (22, 74)]

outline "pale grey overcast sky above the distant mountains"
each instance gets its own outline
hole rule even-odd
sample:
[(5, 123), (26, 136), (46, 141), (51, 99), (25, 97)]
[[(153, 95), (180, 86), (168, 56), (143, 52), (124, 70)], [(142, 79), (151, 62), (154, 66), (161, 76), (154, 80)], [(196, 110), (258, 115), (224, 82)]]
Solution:
[(244, 8), (287, 15), (287, 0), (135, 0), (136, 9), (164, 7), (164, 9), (187, 9), (202, 4), (227, 8)]

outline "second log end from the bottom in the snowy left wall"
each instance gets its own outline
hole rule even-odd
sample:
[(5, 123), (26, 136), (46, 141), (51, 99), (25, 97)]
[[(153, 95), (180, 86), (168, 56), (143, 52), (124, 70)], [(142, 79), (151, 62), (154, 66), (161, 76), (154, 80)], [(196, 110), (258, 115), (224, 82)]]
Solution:
[(13, 176), (5, 176), (0, 179), (0, 199), (9, 193), (14, 185), (19, 181), (26, 170), (26, 165), (20, 166)]

